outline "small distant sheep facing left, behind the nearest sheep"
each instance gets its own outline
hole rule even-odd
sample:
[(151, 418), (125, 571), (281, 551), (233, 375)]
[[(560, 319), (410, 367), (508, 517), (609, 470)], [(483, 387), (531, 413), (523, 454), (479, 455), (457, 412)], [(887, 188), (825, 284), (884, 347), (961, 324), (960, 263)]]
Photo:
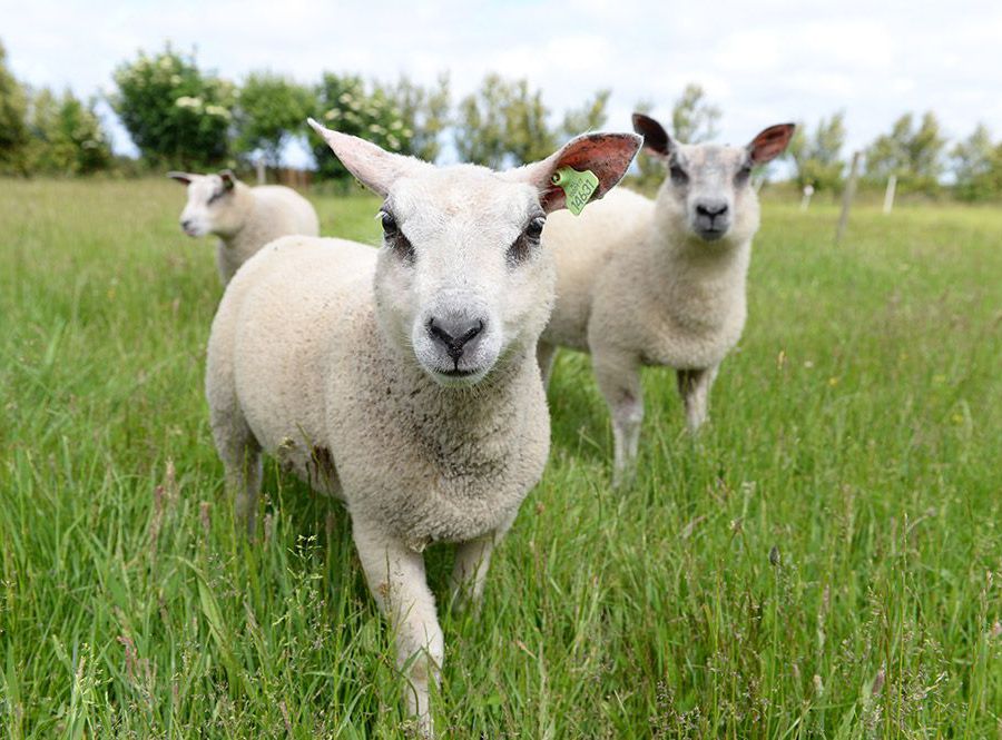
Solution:
[(188, 203), (180, 215), (184, 233), (219, 237), (216, 267), (223, 285), (268, 241), (288, 234), (320, 234), (313, 206), (292, 188), (252, 188), (228, 169), (218, 175), (168, 172), (167, 177), (188, 186)]

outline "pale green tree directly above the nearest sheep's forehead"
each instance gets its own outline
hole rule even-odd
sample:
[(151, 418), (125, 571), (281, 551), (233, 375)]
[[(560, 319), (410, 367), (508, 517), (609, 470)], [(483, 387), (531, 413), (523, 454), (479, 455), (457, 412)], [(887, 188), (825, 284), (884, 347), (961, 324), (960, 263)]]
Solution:
[(557, 147), (548, 115), (542, 92), (527, 80), (488, 75), (459, 103), (455, 148), (464, 161), (495, 169), (542, 159)]

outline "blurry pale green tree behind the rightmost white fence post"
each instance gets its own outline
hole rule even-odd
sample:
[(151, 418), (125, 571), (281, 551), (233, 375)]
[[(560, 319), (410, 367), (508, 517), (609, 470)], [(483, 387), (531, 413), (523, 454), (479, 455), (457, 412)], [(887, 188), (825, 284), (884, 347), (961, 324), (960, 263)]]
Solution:
[(905, 114), (877, 137), (866, 151), (866, 177), (882, 184), (891, 175), (897, 177), (902, 190), (935, 193), (943, 174), (943, 148), (940, 122), (932, 111), (915, 128), (912, 114)]

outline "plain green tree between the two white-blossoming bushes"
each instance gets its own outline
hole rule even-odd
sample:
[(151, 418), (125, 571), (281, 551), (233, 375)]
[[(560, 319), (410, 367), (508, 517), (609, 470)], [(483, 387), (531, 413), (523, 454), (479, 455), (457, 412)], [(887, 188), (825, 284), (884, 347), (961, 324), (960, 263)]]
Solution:
[(278, 167), (285, 145), (306, 132), (306, 117), (316, 108), (313, 90), (271, 72), (252, 72), (239, 90), (234, 111), (236, 150), (256, 150), (269, 167)]

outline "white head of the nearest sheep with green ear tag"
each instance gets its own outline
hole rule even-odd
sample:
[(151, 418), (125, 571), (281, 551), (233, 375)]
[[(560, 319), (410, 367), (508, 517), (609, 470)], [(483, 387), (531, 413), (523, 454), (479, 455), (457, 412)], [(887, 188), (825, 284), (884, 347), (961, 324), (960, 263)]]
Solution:
[(564, 207), (558, 169), (591, 170), (601, 197), (640, 147), (632, 134), (589, 134), (547, 159), (495, 172), (439, 168), (311, 126), (344, 166), (385, 198), (375, 275), (382, 332), (441, 385), (473, 385), (534, 353), (556, 276), (540, 248), (547, 214)]

